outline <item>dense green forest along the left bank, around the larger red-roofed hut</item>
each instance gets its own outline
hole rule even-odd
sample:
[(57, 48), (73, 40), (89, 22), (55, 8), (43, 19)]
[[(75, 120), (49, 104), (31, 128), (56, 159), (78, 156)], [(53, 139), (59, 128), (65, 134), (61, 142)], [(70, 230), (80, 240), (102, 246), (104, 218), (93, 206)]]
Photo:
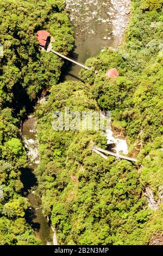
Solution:
[(27, 166), (20, 141), (20, 118), (42, 89), (58, 82), (62, 60), (40, 52), (36, 31), (53, 35), (57, 50), (67, 54), (73, 33), (62, 0), (7, 0), (0, 3), (0, 244), (37, 245), (40, 241), (25, 220), (28, 200), (20, 180)]

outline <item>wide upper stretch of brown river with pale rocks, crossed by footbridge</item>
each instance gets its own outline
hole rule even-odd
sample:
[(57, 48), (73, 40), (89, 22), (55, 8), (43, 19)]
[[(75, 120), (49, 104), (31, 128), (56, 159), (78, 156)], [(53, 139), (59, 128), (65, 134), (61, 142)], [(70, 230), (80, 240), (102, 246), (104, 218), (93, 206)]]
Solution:
[[(75, 38), (72, 57), (78, 62), (85, 63), (105, 47), (116, 49), (121, 44), (130, 0), (66, 0), (66, 9)], [(80, 69), (72, 64), (65, 80), (76, 80)]]

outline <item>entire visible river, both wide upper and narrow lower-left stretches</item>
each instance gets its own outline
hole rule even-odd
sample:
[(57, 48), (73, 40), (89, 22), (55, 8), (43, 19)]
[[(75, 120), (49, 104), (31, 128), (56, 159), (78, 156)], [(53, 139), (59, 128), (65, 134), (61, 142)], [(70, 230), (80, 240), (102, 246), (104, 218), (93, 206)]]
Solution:
[[(75, 45), (73, 58), (81, 63), (104, 50), (104, 47), (117, 48), (121, 44), (123, 31), (127, 25), (129, 0), (66, 0), (66, 9), (74, 30)], [(80, 67), (70, 65), (63, 80), (76, 80)], [(39, 164), (39, 142), (37, 141), (36, 118), (32, 114), (24, 121), (22, 140), (27, 148), (28, 168), (24, 169), (22, 182), (24, 196), (32, 207), (26, 213), (27, 221), (43, 245), (57, 244), (55, 230), (52, 230), (41, 211), (41, 199), (35, 194), (37, 179), (34, 170)]]

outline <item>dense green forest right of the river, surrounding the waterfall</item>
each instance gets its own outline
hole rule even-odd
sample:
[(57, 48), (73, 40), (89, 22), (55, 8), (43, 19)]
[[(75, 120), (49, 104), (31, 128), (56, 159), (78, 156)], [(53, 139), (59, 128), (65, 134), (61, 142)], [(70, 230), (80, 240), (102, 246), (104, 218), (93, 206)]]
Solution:
[[(53, 86), (47, 102), (37, 108), (39, 192), (43, 212), (64, 245), (147, 245), (162, 232), (162, 204), (158, 210), (149, 209), (144, 194), (150, 187), (156, 202), (161, 200), (162, 1), (132, 4), (124, 44), (117, 51), (106, 48), (86, 62), (98, 75), (82, 70), (83, 83)], [(114, 67), (120, 76), (108, 80), (105, 72)], [(54, 131), (53, 112), (65, 106), (70, 111), (111, 111), (112, 126), (126, 131), (130, 153), (134, 145), (141, 145), (137, 165), (92, 154), (93, 142), (106, 147), (100, 133)]]

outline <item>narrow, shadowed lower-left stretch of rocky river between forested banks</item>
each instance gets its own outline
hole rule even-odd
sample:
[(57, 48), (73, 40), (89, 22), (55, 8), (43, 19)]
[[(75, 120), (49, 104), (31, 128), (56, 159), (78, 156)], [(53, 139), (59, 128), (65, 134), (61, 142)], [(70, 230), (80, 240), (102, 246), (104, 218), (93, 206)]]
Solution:
[(40, 162), (39, 141), (37, 140), (37, 122), (34, 115), (29, 115), (22, 127), (22, 140), (27, 149), (28, 167), (23, 170), (21, 180), (24, 184), (24, 196), (32, 205), (26, 212), (27, 222), (35, 231), (35, 236), (43, 245), (53, 245), (53, 230), (41, 211), (40, 197), (35, 194), (37, 179), (34, 173)]

